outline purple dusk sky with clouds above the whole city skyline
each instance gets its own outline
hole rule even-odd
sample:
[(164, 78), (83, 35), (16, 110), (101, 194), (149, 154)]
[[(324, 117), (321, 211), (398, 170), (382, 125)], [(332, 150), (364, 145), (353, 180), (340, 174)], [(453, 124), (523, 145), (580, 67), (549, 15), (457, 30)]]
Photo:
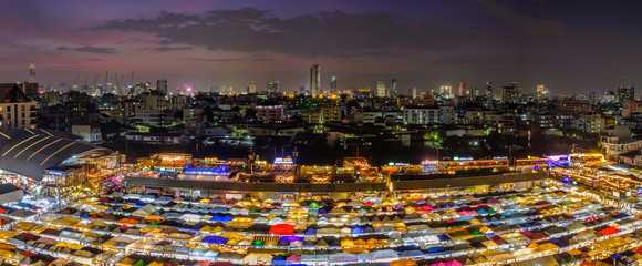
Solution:
[[(590, 2), (590, 4), (589, 4)], [(0, 82), (58, 86), (105, 71), (235, 91), (279, 80), (321, 86), (468, 88), (519, 81), (560, 92), (640, 86), (639, 1), (29, 1), (0, 8)]]

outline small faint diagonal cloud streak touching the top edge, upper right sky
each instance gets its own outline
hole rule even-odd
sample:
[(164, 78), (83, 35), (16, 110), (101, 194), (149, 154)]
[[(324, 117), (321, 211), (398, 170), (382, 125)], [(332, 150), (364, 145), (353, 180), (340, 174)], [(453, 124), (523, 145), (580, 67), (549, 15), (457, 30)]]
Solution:
[(555, 20), (545, 20), (521, 11), (501, 6), (493, 0), (476, 0), (486, 7), (488, 12), (504, 18), (509, 25), (535, 34), (553, 34), (562, 32), (562, 24)]

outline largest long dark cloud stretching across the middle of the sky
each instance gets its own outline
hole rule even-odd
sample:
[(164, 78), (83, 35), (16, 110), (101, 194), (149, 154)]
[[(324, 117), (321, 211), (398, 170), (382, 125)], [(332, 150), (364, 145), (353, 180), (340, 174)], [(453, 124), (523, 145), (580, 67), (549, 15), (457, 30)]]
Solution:
[(400, 49), (445, 50), (464, 40), (459, 30), (446, 24), (383, 12), (333, 11), (281, 19), (252, 8), (204, 14), (162, 12), (151, 19), (112, 20), (91, 30), (152, 33), (162, 38), (162, 45), (312, 58), (390, 57)]

